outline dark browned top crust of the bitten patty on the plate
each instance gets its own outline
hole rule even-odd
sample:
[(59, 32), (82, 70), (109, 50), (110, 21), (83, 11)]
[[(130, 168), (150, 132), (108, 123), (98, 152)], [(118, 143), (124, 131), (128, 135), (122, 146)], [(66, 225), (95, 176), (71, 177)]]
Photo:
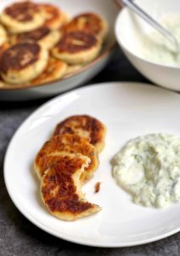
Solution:
[(93, 204), (80, 199), (72, 178), (83, 164), (81, 158), (64, 156), (42, 177), (42, 199), (51, 212), (76, 215), (93, 208)]

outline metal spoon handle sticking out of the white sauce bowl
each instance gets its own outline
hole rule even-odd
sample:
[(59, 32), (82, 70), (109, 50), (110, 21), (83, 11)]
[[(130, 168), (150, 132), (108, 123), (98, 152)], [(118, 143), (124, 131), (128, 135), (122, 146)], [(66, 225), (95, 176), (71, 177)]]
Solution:
[[(118, 0), (118, 2), (120, 1)], [(163, 26), (160, 26), (157, 21), (155, 21), (151, 16), (145, 13), (143, 9), (141, 9), (132, 0), (121, 0), (121, 2), (127, 5), (127, 7), (129, 7), (130, 9), (132, 9), (132, 11), (139, 15), (141, 18), (143, 18), (143, 20), (147, 21), (150, 26), (155, 27), (156, 30), (158, 30), (164, 37), (166, 37), (172, 44), (174, 44), (176, 51), (180, 52), (180, 44), (178, 43), (177, 38), (175, 38), (171, 32), (168, 32)]]

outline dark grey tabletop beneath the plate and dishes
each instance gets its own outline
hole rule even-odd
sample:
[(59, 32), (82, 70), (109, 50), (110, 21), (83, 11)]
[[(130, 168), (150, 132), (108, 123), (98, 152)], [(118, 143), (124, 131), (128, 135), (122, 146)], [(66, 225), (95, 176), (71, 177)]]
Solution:
[[(105, 81), (147, 82), (117, 50), (104, 71), (90, 83)], [(98, 248), (76, 245), (60, 240), (39, 230), (18, 210), (8, 196), (3, 181), (3, 158), (14, 131), (43, 102), (1, 102), (0, 103), (0, 256), (6, 255), (180, 255), (180, 233), (174, 236), (138, 247)], [(12, 166), (13, 168), (13, 166)]]

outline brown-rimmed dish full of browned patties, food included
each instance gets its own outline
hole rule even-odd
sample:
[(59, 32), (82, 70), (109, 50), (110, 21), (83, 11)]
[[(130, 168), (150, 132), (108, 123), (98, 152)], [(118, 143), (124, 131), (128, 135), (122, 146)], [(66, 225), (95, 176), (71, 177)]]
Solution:
[(92, 79), (115, 50), (118, 12), (111, 0), (2, 0), (0, 100), (55, 96)]

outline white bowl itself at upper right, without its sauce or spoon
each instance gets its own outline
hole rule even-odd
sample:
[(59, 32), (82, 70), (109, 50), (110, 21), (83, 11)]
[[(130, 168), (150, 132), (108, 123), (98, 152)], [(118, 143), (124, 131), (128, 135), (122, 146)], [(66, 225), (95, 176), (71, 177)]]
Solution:
[[(160, 20), (166, 15), (179, 15), (179, 0), (137, 0), (136, 3), (149, 15)], [(142, 35), (154, 29), (127, 8), (121, 10), (115, 22), (115, 36), (127, 59), (147, 79), (171, 90), (180, 91), (180, 68), (169, 67), (147, 61), (138, 55)]]

